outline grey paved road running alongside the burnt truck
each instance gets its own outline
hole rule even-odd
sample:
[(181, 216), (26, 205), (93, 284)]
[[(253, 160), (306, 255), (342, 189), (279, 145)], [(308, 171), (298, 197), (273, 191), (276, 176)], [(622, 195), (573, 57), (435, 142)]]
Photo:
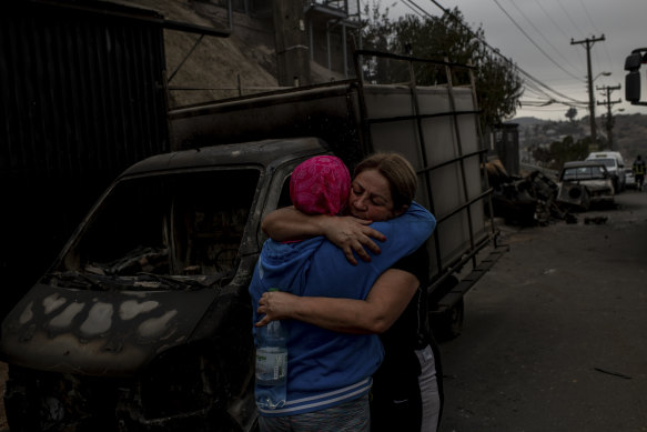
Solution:
[(616, 199), (577, 224), (503, 227), (510, 251), (441, 344), (441, 432), (647, 431), (647, 192)]

